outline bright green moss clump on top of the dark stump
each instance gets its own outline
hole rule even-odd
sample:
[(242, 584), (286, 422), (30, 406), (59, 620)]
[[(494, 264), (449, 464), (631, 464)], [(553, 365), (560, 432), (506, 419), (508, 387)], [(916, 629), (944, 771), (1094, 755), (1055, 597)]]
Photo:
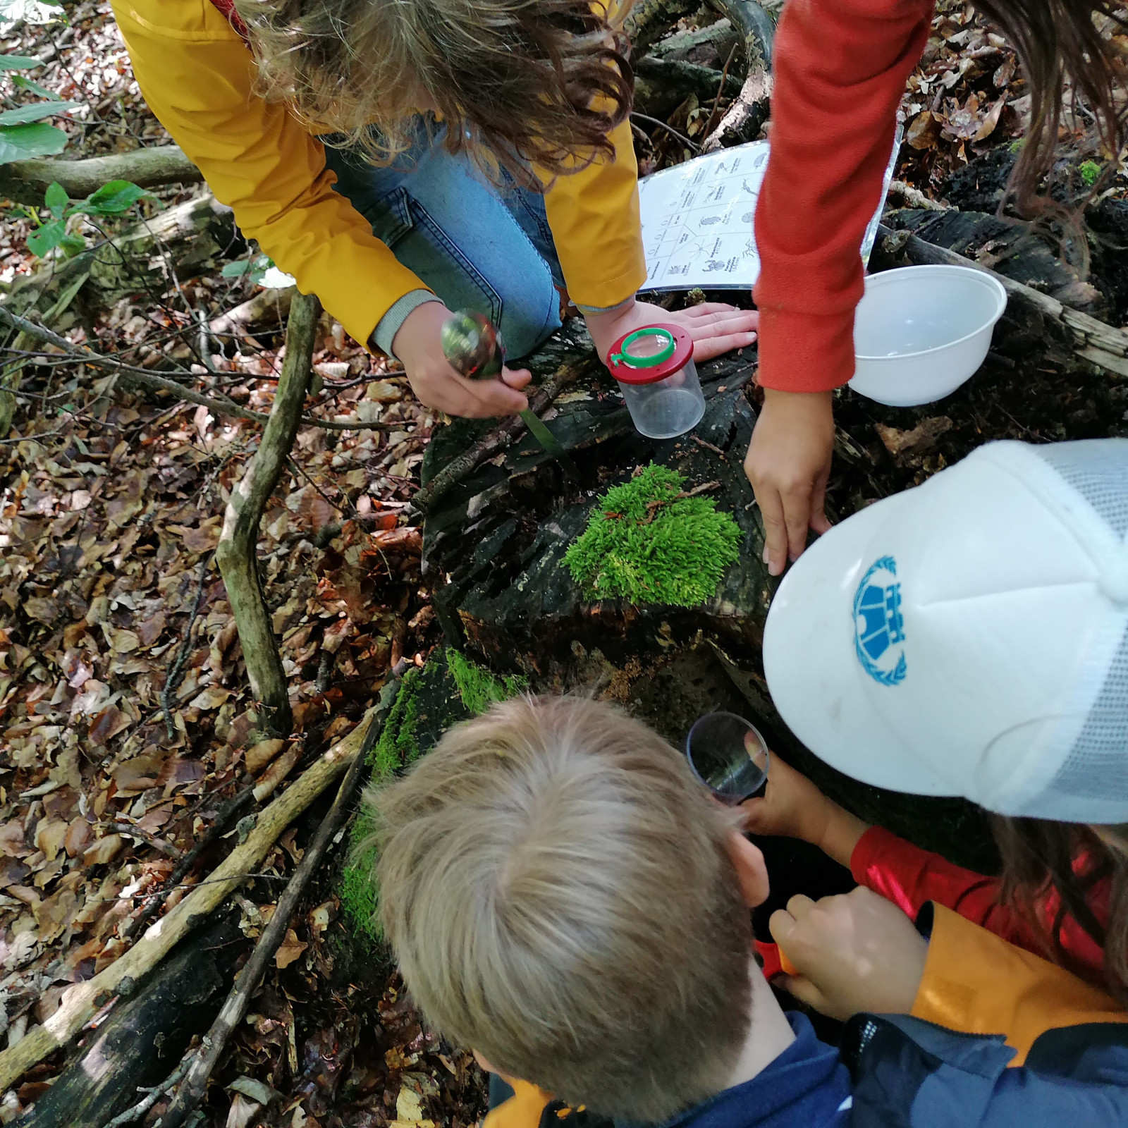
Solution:
[(590, 600), (697, 607), (716, 592), (742, 539), (712, 497), (651, 465), (599, 500), (563, 564)]

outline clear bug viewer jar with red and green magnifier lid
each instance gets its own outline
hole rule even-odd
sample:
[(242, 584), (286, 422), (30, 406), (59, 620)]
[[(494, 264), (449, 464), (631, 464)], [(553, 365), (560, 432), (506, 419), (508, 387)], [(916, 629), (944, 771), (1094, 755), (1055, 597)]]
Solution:
[(650, 439), (685, 434), (705, 414), (694, 343), (677, 325), (647, 325), (619, 337), (607, 367), (635, 428)]

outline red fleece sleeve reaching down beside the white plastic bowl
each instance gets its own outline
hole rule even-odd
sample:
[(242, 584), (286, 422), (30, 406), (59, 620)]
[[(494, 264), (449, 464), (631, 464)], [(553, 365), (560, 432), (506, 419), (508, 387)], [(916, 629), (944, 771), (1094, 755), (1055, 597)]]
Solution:
[(784, 9), (756, 209), (766, 388), (826, 391), (854, 374), (862, 238), (931, 21), (932, 0), (788, 0)]

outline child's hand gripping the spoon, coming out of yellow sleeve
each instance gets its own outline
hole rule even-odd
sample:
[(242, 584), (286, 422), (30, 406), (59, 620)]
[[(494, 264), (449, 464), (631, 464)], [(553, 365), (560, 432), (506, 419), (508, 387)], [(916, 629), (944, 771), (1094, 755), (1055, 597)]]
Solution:
[(503, 368), (500, 379), (469, 380), (451, 368), (440, 340), (442, 323), (448, 317), (450, 310), (441, 301), (417, 306), (391, 343), (420, 403), (469, 418), (525, 411), (529, 400), (520, 389), (532, 378), (527, 369)]

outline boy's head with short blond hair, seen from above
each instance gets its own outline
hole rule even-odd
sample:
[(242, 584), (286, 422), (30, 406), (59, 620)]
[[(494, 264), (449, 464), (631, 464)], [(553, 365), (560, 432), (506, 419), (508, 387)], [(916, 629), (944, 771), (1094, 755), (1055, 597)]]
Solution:
[(562, 1100), (661, 1121), (750, 1016), (731, 820), (610, 705), (514, 699), (371, 793), (380, 911), (433, 1025)]

